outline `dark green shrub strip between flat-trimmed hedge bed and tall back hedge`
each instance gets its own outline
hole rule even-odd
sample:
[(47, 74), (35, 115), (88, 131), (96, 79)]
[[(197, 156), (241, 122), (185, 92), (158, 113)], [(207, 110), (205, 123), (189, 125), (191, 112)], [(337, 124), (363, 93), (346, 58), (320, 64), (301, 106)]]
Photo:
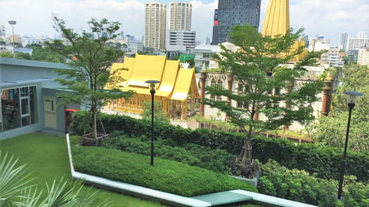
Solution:
[[(149, 156), (150, 138), (141, 135), (139, 138), (113, 133), (111, 138), (104, 138), (101, 147), (119, 149), (124, 152), (143, 154)], [(210, 147), (186, 144), (182, 147), (169, 146), (168, 140), (155, 142), (155, 157), (170, 159), (186, 163), (190, 166), (198, 166), (219, 173), (228, 173), (228, 164), (235, 156), (223, 149), (211, 149)]]

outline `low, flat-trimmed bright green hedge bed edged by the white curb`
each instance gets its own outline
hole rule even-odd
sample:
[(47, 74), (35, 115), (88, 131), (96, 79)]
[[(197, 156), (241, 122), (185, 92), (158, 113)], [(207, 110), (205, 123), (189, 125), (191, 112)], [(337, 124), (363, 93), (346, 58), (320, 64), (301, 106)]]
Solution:
[(157, 189), (181, 196), (198, 196), (232, 189), (257, 192), (247, 182), (176, 161), (103, 147), (72, 147), (75, 171)]

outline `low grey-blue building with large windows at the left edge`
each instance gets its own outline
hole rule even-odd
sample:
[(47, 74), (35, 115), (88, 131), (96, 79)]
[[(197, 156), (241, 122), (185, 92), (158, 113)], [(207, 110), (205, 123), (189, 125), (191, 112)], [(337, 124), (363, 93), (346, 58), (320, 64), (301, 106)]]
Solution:
[(60, 77), (54, 69), (70, 68), (60, 63), (0, 58), (0, 140), (45, 128), (64, 132), (64, 109), (84, 109), (79, 105), (57, 107), (63, 100), (56, 93), (72, 92), (54, 82)]

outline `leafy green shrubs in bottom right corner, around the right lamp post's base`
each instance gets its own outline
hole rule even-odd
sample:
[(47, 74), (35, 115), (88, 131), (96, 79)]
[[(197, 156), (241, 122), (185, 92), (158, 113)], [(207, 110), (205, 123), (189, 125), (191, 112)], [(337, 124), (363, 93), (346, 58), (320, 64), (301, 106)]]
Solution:
[(315, 178), (306, 171), (289, 170), (273, 160), (261, 168), (262, 176), (258, 185), (261, 194), (316, 206), (369, 207), (369, 186), (365, 187), (360, 182), (344, 183), (342, 202), (337, 200), (337, 180), (328, 181)]

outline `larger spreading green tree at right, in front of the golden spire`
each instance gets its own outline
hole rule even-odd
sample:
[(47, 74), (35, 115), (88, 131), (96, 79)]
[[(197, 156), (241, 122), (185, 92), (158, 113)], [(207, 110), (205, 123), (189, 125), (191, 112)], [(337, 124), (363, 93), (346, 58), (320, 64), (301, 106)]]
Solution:
[[(229, 34), (233, 44), (240, 46), (235, 52), (220, 45), (222, 50), (214, 55), (221, 72), (228, 73), (235, 81), (240, 82), (238, 91), (233, 93), (221, 85), (207, 86), (207, 95), (230, 98), (242, 107), (233, 107), (226, 101), (204, 98), (202, 104), (216, 107), (228, 115), (228, 120), (238, 126), (247, 136), (238, 157), (241, 164), (251, 165), (250, 142), (254, 135), (261, 131), (271, 131), (280, 126), (290, 126), (293, 121), (306, 123), (314, 119), (311, 102), (318, 100), (316, 95), (322, 91), (323, 83), (313, 81), (292, 91), (294, 79), (304, 76), (306, 65), (316, 65), (321, 52), (306, 54), (306, 58), (293, 65), (292, 69), (285, 66), (292, 58), (304, 51), (304, 47), (292, 48), (294, 41), (302, 35), (304, 29), (287, 30), (285, 35), (263, 36), (250, 25), (232, 27)], [(272, 73), (272, 76), (267, 76)], [(268, 91), (276, 89), (278, 95), (268, 95)], [(287, 106), (287, 107), (286, 107)], [(265, 120), (255, 120), (255, 114), (264, 114)]]

